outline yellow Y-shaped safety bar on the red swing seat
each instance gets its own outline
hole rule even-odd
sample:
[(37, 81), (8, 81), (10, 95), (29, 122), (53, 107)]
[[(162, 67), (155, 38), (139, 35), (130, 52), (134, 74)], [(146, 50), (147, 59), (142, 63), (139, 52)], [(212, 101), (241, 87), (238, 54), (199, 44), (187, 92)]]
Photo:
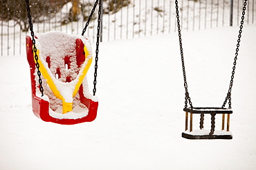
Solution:
[[(84, 45), (84, 53), (85, 53), (85, 56), (89, 56), (89, 51), (87, 50), (86, 46)], [(54, 81), (53, 81), (53, 78), (55, 78), (53, 76), (53, 74), (49, 74), (46, 70), (46, 67), (44, 67), (44, 64), (42, 63), (41, 61), (41, 58), (39, 56), (39, 50), (37, 50), (37, 56), (38, 56), (38, 63), (40, 65), (39, 67), (39, 70), (40, 72), (42, 73), (42, 75), (44, 76), (44, 78), (46, 79), (46, 82), (48, 83), (49, 87), (51, 88), (53, 94), (59, 98), (60, 100), (62, 100), (62, 114), (66, 114), (68, 111), (72, 111), (72, 105), (73, 103), (67, 103), (66, 102), (66, 99), (62, 96), (62, 94), (60, 93), (60, 91), (57, 89)], [(35, 52), (34, 52), (34, 60), (35, 60)], [(89, 70), (89, 67), (91, 66), (91, 62), (92, 62), (92, 57), (91, 59), (89, 59), (87, 61), (87, 64), (85, 67), (82, 67), (82, 71), (80, 70), (79, 74), (79, 78), (78, 78), (78, 81), (77, 83), (75, 84), (75, 88), (73, 89), (73, 97), (75, 96), (75, 94), (77, 94), (77, 91), (80, 87), (80, 85), (82, 84), (82, 81), (84, 80), (84, 77), (86, 76), (88, 70)]]

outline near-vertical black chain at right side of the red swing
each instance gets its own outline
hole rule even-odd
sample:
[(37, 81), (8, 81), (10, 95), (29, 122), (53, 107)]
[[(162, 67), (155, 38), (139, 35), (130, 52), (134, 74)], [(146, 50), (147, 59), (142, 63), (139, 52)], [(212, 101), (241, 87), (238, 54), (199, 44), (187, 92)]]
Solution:
[[(98, 2), (98, 1), (97, 1)], [(94, 66), (94, 81), (93, 81), (93, 96), (96, 93), (96, 84), (97, 84), (97, 70), (98, 70), (98, 54), (99, 54), (99, 45), (100, 45), (100, 23), (101, 23), (101, 11), (102, 10), (102, 0), (99, 2), (99, 11), (98, 11), (98, 27), (97, 27), (97, 41), (96, 41), (96, 51), (95, 51), (95, 66)], [(86, 28), (85, 28), (86, 30)]]

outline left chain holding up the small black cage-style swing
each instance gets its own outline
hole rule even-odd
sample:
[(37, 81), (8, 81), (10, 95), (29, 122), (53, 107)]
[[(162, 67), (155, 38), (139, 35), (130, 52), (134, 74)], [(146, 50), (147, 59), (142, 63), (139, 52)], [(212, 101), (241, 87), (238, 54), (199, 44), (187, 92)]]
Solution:
[(188, 103), (190, 104), (190, 107), (193, 108), (190, 94), (188, 93), (188, 83), (187, 83), (187, 77), (185, 74), (185, 63), (184, 63), (183, 47), (182, 47), (182, 39), (181, 39), (181, 25), (180, 25), (180, 19), (179, 19), (178, 0), (175, 0), (175, 4), (176, 4), (177, 27), (178, 27), (178, 32), (179, 32), (179, 45), (180, 45), (180, 50), (181, 50), (181, 63), (182, 63), (183, 79), (184, 79), (184, 87), (185, 87), (185, 108), (188, 107)]

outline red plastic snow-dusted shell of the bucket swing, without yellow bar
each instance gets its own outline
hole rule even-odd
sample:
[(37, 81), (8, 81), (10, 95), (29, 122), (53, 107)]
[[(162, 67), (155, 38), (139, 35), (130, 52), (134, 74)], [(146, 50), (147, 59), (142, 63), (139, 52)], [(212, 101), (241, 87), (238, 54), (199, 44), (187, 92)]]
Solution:
[[(66, 34), (61, 33), (61, 35), (66, 35)], [(40, 39), (42, 36), (45, 36), (45, 34), (40, 34), (39, 37), (35, 36), (35, 39), (37, 39), (36, 45), (40, 41), (40, 40), (38, 41), (38, 39)], [(47, 37), (44, 37), (44, 39), (45, 38), (47, 41), (49, 41)], [(64, 39), (63, 36), (61, 37), (61, 39), (56, 41), (58, 43), (62, 43), (61, 41), (62, 39), (63, 41), (66, 41), (66, 39)], [(54, 43), (54, 41), (50, 41), (51, 43), (40, 42), (39, 44), (40, 45), (39, 55), (41, 55), (45, 59), (46, 63), (48, 64), (48, 67), (51, 70), (51, 73), (55, 75), (55, 77), (59, 81), (62, 81), (62, 82), (71, 82), (76, 78), (78, 72), (80, 71), (80, 67), (82, 63), (84, 63), (85, 57), (86, 57), (84, 55), (83, 41), (81, 39), (75, 39), (72, 41), (74, 41), (73, 47), (71, 47), (72, 43), (70, 42), (68, 42), (67, 44), (63, 43), (62, 44), (63, 47), (60, 47), (60, 49), (56, 51), (57, 54), (55, 54), (56, 52), (53, 49), (48, 50), (48, 48), (49, 47), (57, 48), (61, 44), (58, 45), (57, 43)], [(42, 80), (43, 80), (44, 94), (48, 96), (49, 102), (46, 100), (42, 100), (42, 98), (39, 98), (40, 92), (39, 92), (38, 76), (35, 76), (37, 75), (37, 69), (35, 67), (35, 61), (33, 59), (33, 50), (32, 50), (33, 44), (30, 36), (26, 37), (26, 43), (27, 43), (27, 58), (28, 58), (28, 63), (30, 65), (30, 74), (31, 74), (33, 111), (35, 115), (39, 118), (42, 118), (45, 121), (51, 121), (54, 123), (60, 123), (65, 125), (71, 125), (75, 123), (82, 123), (84, 121), (94, 120), (97, 113), (98, 102), (93, 102), (93, 100), (91, 100), (92, 96), (91, 94), (89, 94), (89, 88), (86, 83), (86, 80), (82, 83), (79, 91), (73, 98), (73, 107), (79, 106), (84, 109), (88, 108), (89, 109), (88, 116), (84, 118), (75, 118), (75, 119), (49, 118), (51, 117), (49, 114), (49, 108), (44, 108), (44, 107), (47, 107), (48, 105), (48, 107), (50, 107), (51, 110), (57, 111), (62, 106), (62, 101), (53, 95), (53, 92), (51, 92), (51, 89), (48, 87), (43, 77), (42, 77)], [(66, 46), (68, 44), (69, 46)], [(57, 47), (53, 47), (54, 45)], [(84, 92), (86, 92), (86, 94), (84, 94)], [(44, 107), (42, 107), (42, 105), (44, 105)]]

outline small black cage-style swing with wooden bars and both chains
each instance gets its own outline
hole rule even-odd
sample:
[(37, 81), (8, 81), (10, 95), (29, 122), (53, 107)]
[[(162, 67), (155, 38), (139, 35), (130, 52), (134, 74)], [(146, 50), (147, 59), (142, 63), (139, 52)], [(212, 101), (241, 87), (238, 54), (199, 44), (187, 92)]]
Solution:
[[(241, 25), (239, 29), (239, 35), (237, 40), (237, 48), (235, 52), (235, 59), (232, 67), (232, 75), (230, 80), (230, 85), (228, 89), (228, 94), (223, 102), (223, 105), (221, 107), (193, 107), (192, 101), (190, 98), (190, 94), (188, 93), (188, 83), (187, 78), (185, 74), (185, 64), (184, 64), (184, 57), (183, 57), (183, 45), (181, 40), (181, 25), (180, 25), (180, 19), (179, 19), (179, 6), (178, 6), (178, 0), (175, 0), (176, 4), (176, 19), (177, 19), (177, 27), (178, 27), (178, 33), (179, 33), (179, 45), (180, 45), (180, 51), (181, 51), (181, 62), (183, 67), (183, 80), (184, 80), (184, 87), (185, 87), (185, 108), (183, 111), (185, 111), (185, 131), (182, 134), (183, 138), (188, 139), (232, 139), (232, 133), (230, 132), (230, 114), (232, 114), (232, 107), (231, 107), (231, 90), (232, 90), (232, 84), (235, 74), (235, 66), (237, 64), (237, 56), (239, 51), (239, 43), (241, 41), (241, 32), (244, 24), (244, 16), (246, 12), (246, 5), (247, 0), (244, 0), (244, 7), (243, 12), (241, 16)], [(226, 103), (228, 102), (228, 108), (225, 108)], [(188, 103), (190, 107), (188, 107)], [(188, 115), (190, 113), (190, 129), (188, 129)], [(193, 114), (200, 114), (200, 129), (193, 131)], [(211, 115), (211, 129), (210, 131), (203, 129), (203, 120), (204, 115), (210, 114)], [(222, 124), (221, 124), (221, 131), (215, 131), (215, 116), (216, 114), (222, 114)], [(225, 130), (225, 118), (227, 115), (227, 124), (226, 124), (226, 130)]]

